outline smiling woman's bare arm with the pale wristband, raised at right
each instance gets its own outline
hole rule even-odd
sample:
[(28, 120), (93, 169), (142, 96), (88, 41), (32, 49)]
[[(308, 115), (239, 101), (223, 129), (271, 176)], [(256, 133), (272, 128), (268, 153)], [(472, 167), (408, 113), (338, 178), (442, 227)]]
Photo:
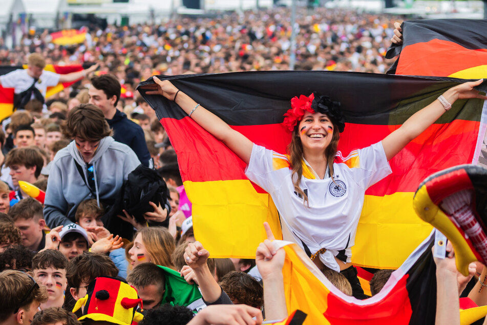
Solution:
[[(487, 96), (479, 94), (479, 91), (474, 89), (482, 83), (483, 79), (476, 82), (464, 83), (450, 88), (443, 93), (443, 97), (453, 104), (455, 100), (462, 98), (480, 98), (487, 99)], [(438, 99), (433, 101), (424, 109), (414, 113), (409, 117), (403, 125), (382, 140), (382, 146), (386, 152), (387, 160), (394, 157), (401, 149), (403, 149), (411, 140), (420, 135), (430, 125), (446, 112), (443, 105)]]

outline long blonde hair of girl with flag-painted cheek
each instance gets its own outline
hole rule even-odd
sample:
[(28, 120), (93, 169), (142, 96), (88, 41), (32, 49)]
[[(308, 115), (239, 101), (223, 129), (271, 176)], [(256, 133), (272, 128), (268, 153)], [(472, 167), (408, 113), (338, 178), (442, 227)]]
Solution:
[(142, 237), (145, 250), (154, 264), (175, 269), (171, 255), (176, 248), (174, 238), (164, 227), (142, 228), (137, 234)]

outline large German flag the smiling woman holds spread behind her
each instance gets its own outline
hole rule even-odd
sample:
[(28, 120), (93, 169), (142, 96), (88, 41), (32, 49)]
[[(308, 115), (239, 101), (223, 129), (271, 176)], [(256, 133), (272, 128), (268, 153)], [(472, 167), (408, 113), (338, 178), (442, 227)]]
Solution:
[[(341, 157), (382, 140), (404, 121), (461, 82), (328, 71), (265, 71), (164, 77), (254, 143), (285, 154), (290, 133), (282, 125), (290, 99), (312, 91), (341, 101), (346, 127)], [(245, 176), (245, 164), (225, 145), (162, 96), (147, 95), (152, 80), (138, 87), (160, 118), (178, 154), (183, 184), (193, 203), (195, 236), (213, 257), (253, 258), (268, 221), (282, 238), (270, 196)], [(481, 86), (487, 90), (487, 84)], [(391, 161), (393, 173), (370, 187), (359, 221), (352, 262), (397, 269), (428, 236), (412, 198), (422, 179), (478, 159), (485, 124), (483, 101), (457, 100), (453, 108)], [(340, 157), (337, 157), (340, 159)]]

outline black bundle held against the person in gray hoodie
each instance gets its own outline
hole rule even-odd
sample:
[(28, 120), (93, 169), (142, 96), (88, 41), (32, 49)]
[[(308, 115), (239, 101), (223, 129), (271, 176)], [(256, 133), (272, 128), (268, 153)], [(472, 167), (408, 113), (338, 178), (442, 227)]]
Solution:
[(143, 165), (129, 174), (122, 193), (122, 208), (140, 223), (145, 222), (144, 213), (154, 211), (150, 201), (164, 207), (168, 197), (164, 179), (157, 171)]

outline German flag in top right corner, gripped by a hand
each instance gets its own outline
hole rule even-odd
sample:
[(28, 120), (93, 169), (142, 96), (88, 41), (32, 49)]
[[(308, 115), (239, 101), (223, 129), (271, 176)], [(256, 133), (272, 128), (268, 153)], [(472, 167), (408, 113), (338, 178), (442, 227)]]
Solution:
[(487, 19), (424, 19), (406, 21), (401, 27), (403, 45), (393, 45), (386, 55), (393, 58), (400, 53), (391, 73), (487, 77)]

